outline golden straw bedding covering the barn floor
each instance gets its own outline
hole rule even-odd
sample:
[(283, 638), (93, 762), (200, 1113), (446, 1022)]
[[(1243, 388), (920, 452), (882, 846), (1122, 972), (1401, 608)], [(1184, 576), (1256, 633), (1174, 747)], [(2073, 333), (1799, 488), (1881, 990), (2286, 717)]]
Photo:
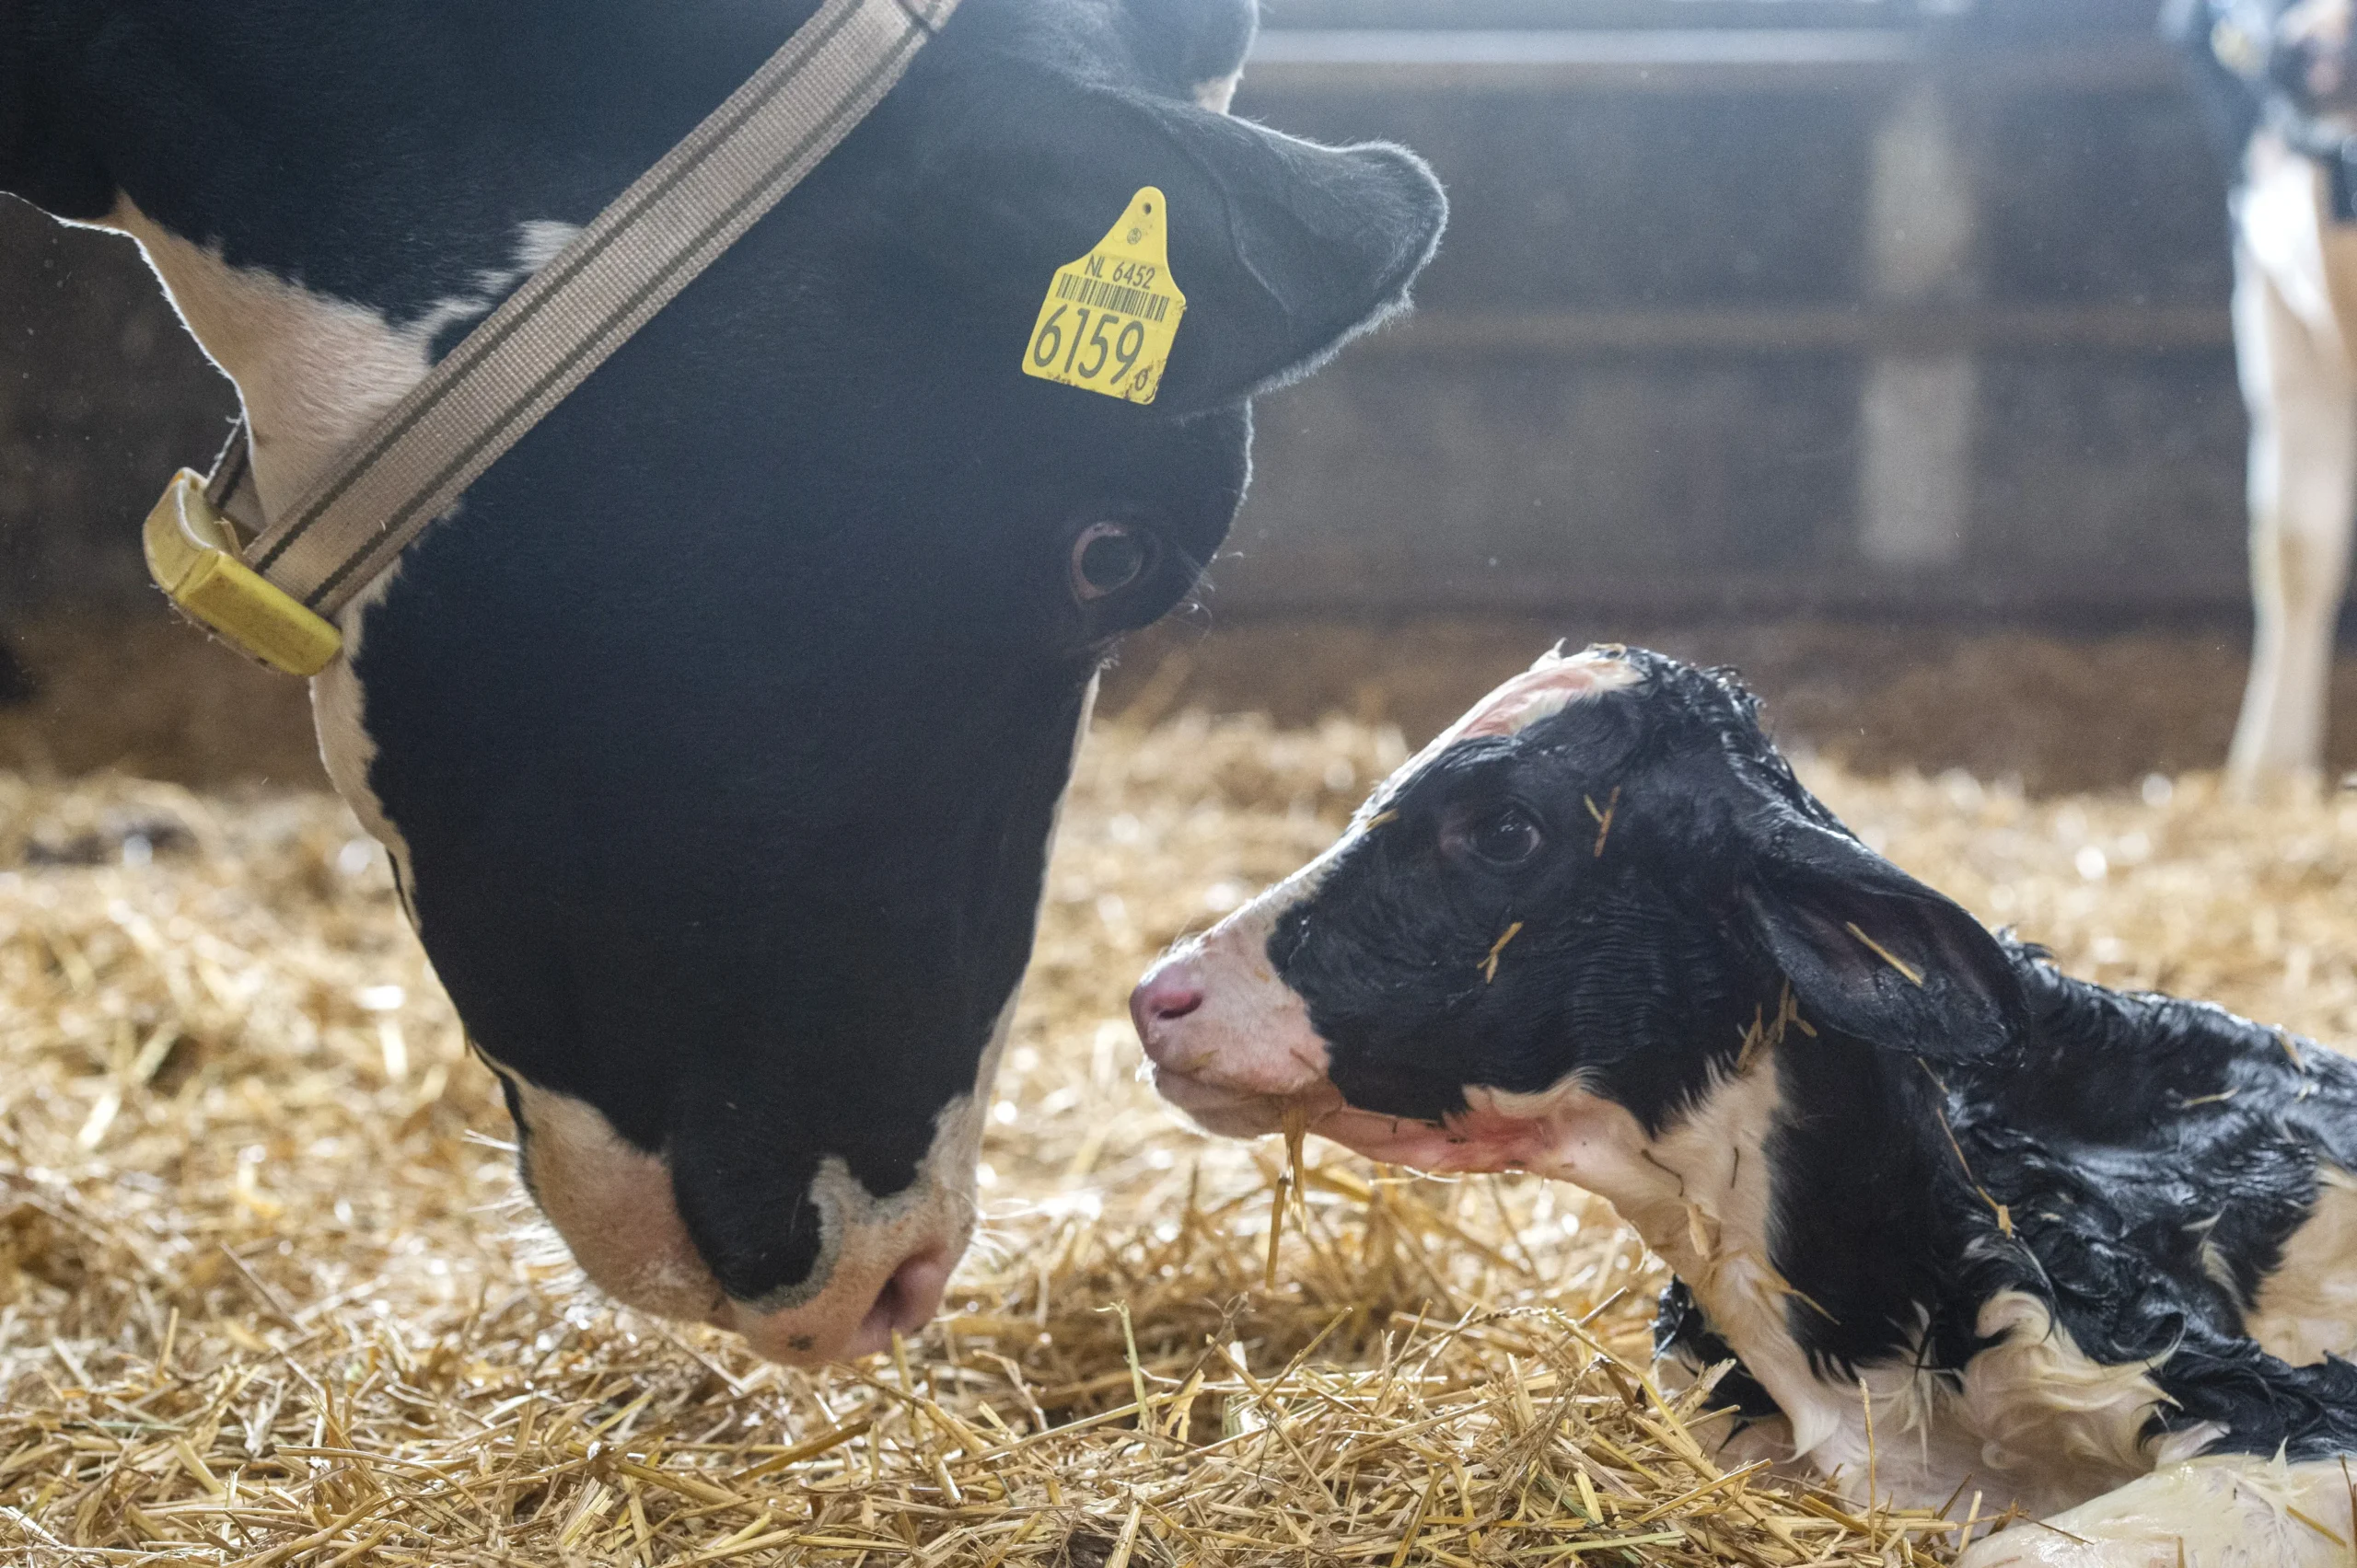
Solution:
[[(615, 1314), (309, 793), (0, 775), (0, 1554), (28, 1563), (1930, 1563), (1956, 1521), (1721, 1474), (1657, 1267), (1530, 1180), (1211, 1144), (1122, 996), (1405, 746), (1176, 718), (1087, 753), (950, 1316), (792, 1373)], [(2357, 1031), (2357, 803), (1813, 779), (2102, 979)], [(1289, 1191), (1270, 1267), (1270, 1224)], [(1886, 1441), (1904, 1441), (1886, 1434)], [(1978, 1523), (1978, 1521), (1975, 1521)]]

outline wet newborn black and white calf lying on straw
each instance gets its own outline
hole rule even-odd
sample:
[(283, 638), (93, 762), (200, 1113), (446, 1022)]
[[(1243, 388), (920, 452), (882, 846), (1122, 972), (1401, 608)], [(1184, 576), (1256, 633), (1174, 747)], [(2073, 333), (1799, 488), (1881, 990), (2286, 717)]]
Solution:
[(1992, 937), (1725, 673), (1541, 659), (1131, 1005), (1214, 1132), (1605, 1196), (1730, 1462), (2058, 1526), (1975, 1568), (2350, 1561), (2357, 1064)]

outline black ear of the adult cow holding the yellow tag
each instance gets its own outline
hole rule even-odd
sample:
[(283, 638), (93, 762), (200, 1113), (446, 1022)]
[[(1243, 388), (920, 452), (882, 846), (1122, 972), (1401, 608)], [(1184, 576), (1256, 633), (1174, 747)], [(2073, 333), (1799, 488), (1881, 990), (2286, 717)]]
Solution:
[[(990, 245), (992, 332), (1021, 353), (1056, 268), (1087, 257), (1155, 186), (1169, 202), (1169, 271), (1186, 292), (1155, 407), (1190, 414), (1315, 370), (1346, 339), (1407, 304), (1447, 198), (1421, 158), (1369, 144), (1329, 148), (1141, 87), (999, 59), (988, 78), (910, 94), (933, 129), (945, 257)], [(915, 82), (912, 82), (915, 85)], [(948, 92), (966, 89), (952, 106)], [(936, 122), (938, 127), (940, 122)], [(926, 202), (915, 205), (917, 212)]]

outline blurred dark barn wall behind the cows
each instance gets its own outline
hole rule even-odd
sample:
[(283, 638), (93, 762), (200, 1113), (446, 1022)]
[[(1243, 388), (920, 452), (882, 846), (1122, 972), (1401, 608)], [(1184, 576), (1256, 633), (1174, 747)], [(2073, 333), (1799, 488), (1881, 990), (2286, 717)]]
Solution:
[[(1268, 12), (1240, 108), (1417, 146), (1457, 221), (1263, 403), (1223, 612), (2242, 600), (2223, 193), (2145, 0)], [(125, 242), (0, 200), (0, 617), (151, 605), (231, 407)]]

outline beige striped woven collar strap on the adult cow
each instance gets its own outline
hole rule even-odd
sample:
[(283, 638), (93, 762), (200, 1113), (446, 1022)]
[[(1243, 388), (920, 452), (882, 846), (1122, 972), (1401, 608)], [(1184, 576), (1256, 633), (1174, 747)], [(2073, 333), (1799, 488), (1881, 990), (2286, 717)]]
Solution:
[[(467, 485), (801, 184), (955, 9), (957, 0), (825, 0), (752, 80), (273, 518), (236, 565), (295, 600), (288, 610), (332, 622)], [(217, 490), (226, 504), (233, 483)], [(153, 534), (151, 520), (151, 558)], [(172, 582), (165, 589), (205, 624), (250, 643)]]

